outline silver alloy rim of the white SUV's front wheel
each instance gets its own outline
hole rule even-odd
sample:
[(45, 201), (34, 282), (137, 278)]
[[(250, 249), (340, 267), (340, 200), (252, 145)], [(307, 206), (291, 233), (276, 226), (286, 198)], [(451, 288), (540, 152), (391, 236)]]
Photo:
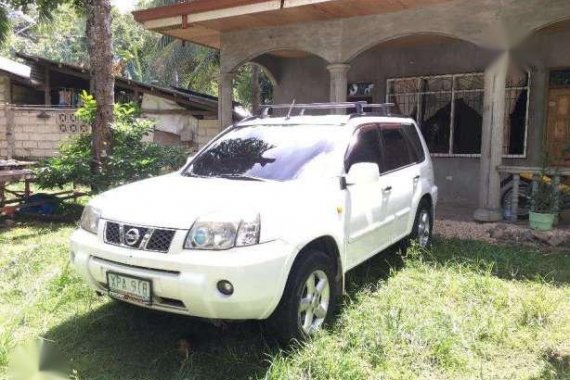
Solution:
[(330, 303), (330, 284), (325, 272), (316, 270), (309, 275), (299, 302), (299, 326), (307, 335), (324, 323)]

